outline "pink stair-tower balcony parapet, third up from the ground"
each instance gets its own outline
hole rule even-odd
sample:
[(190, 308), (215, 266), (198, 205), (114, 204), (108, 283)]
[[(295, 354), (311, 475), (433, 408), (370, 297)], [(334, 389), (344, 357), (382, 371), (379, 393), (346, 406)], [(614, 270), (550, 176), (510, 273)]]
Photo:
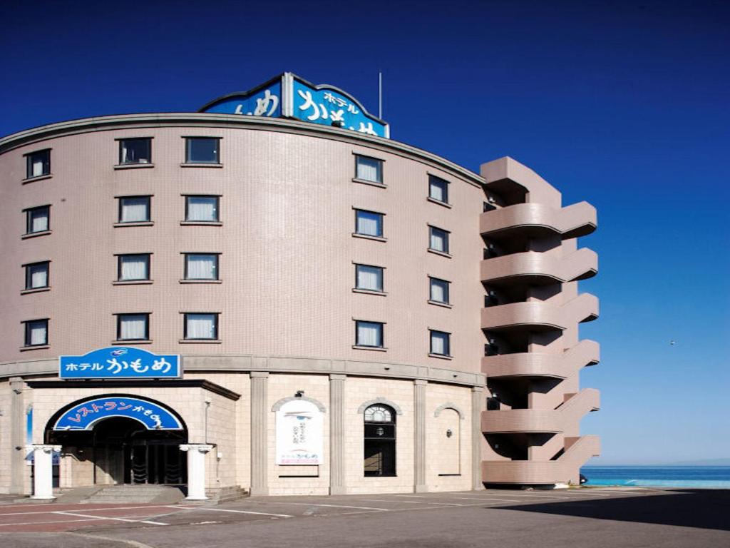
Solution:
[(595, 340), (585, 339), (560, 354), (520, 352), (485, 356), (482, 358), (482, 373), (488, 378), (568, 378), (586, 365), (596, 365), (599, 359), (599, 344)]

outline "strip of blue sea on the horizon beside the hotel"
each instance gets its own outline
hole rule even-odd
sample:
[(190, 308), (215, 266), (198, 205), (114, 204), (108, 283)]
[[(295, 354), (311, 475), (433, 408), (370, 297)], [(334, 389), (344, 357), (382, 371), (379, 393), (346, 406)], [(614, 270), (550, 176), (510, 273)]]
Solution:
[(585, 485), (730, 489), (730, 466), (583, 466)]

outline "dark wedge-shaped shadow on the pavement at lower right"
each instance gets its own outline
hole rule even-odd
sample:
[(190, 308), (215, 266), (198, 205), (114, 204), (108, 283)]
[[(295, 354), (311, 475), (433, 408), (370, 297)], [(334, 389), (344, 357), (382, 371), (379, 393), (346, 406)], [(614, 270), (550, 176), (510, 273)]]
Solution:
[(499, 509), (730, 530), (730, 490), (671, 490), (663, 495), (591, 498), (564, 503), (499, 506)]

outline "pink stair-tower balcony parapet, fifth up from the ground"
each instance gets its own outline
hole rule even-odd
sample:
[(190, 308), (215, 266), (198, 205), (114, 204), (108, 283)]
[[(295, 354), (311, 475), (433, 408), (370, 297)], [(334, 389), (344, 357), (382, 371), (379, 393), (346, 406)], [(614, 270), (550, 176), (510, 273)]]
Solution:
[(591, 278), (598, 272), (598, 255), (581, 248), (563, 256), (558, 252), (526, 251), (486, 259), (481, 262), (481, 279), (492, 286), (523, 281), (530, 285), (568, 282)]

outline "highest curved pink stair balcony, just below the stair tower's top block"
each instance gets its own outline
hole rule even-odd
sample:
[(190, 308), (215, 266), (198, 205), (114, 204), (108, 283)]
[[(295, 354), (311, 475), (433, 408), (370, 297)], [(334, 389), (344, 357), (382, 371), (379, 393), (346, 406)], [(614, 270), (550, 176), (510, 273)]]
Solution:
[(539, 203), (515, 204), (480, 215), (480, 231), (495, 240), (523, 233), (530, 237), (558, 234), (564, 240), (591, 234), (596, 229), (596, 208), (578, 202), (566, 208)]

